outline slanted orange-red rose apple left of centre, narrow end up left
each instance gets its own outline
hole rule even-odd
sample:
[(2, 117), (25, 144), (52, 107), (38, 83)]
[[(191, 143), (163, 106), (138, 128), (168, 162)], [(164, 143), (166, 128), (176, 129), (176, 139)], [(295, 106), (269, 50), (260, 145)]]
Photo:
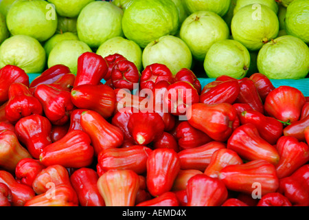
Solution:
[(96, 111), (84, 111), (80, 117), (82, 129), (91, 138), (95, 155), (104, 148), (116, 148), (122, 145), (124, 133), (117, 126), (109, 123)]

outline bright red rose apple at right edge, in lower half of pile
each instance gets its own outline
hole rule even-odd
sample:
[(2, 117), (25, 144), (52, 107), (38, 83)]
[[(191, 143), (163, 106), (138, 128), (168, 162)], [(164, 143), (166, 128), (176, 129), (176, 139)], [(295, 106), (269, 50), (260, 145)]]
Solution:
[(277, 176), (284, 178), (309, 161), (309, 146), (295, 137), (282, 136), (277, 142), (280, 159), (276, 165)]

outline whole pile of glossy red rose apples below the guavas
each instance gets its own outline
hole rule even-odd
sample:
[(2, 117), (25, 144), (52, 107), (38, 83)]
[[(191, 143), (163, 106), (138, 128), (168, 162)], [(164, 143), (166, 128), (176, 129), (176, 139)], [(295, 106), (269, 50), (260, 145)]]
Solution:
[(202, 88), (87, 52), (3, 67), (0, 104), (0, 206), (309, 206), (309, 100), (262, 74)]

